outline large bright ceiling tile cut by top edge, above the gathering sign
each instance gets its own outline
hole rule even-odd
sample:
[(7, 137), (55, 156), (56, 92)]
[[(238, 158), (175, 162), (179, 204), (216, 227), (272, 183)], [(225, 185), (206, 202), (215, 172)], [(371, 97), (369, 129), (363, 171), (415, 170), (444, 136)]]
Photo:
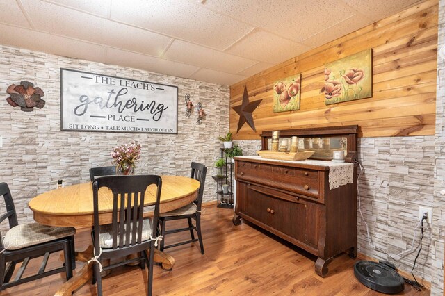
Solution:
[(186, 0), (113, 1), (111, 19), (220, 50), (252, 30)]

